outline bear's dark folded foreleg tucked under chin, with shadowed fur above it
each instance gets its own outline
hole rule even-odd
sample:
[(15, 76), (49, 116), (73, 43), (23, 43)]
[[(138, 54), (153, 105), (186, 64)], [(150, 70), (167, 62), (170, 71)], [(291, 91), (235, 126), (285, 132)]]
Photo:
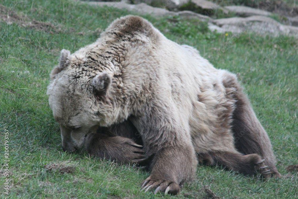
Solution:
[(146, 165), (142, 144), (136, 127), (130, 121), (124, 121), (110, 127), (98, 127), (97, 133), (86, 138), (85, 148), (90, 155), (98, 158)]

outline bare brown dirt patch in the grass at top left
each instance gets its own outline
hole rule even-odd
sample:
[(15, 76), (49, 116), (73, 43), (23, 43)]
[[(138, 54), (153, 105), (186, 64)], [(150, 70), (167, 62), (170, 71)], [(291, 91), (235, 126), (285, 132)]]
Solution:
[(7, 24), (18, 24), (20, 26), (29, 27), (35, 30), (41, 30), (49, 33), (61, 32), (60, 26), (54, 26), (50, 22), (42, 22), (36, 20), (30, 20), (28, 17), (17, 14), (15, 11), (8, 9), (0, 4), (0, 20), (4, 20)]

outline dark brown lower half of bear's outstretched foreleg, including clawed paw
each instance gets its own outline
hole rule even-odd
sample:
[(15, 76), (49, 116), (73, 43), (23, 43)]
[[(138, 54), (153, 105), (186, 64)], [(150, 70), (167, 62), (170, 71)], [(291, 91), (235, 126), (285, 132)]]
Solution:
[(196, 170), (197, 161), (192, 151), (185, 146), (161, 149), (151, 162), (151, 175), (142, 182), (142, 189), (155, 189), (154, 194), (179, 194), (179, 185), (190, 181)]

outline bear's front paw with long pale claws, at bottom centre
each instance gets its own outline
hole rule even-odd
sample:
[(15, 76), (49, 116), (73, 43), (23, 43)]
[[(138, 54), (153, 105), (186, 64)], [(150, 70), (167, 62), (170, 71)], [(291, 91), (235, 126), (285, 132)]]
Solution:
[(180, 194), (180, 187), (176, 182), (167, 180), (153, 180), (151, 176), (142, 182), (142, 190), (147, 192), (148, 190), (155, 189), (154, 195), (157, 192), (164, 192), (164, 195), (169, 194)]

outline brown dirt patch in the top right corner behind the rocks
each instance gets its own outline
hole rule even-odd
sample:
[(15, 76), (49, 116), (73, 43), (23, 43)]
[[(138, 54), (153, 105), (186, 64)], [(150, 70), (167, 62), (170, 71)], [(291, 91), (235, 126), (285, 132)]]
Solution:
[(298, 16), (298, 7), (290, 7), (288, 4), (281, 0), (264, 0), (260, 2), (257, 8), (284, 16)]

